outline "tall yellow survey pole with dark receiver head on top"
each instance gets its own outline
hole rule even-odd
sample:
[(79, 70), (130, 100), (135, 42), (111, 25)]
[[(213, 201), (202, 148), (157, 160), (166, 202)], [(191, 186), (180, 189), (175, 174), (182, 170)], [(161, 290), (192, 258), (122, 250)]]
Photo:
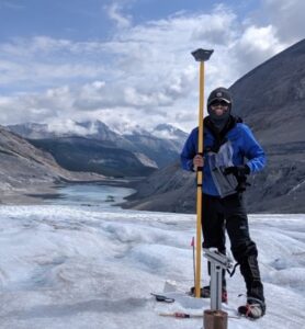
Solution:
[[(208, 60), (213, 50), (197, 49), (192, 53), (196, 61), (200, 61), (200, 84), (199, 84), (199, 146), (197, 154), (203, 156), (203, 105), (204, 105), (204, 61)], [(202, 183), (203, 168), (197, 168), (196, 186), (196, 256), (195, 256), (195, 297), (201, 297), (201, 220), (202, 220)]]

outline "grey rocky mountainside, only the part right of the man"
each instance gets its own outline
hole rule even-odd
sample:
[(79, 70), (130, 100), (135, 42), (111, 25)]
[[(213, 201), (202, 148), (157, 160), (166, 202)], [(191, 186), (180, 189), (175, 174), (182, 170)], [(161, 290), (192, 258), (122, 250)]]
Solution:
[(305, 39), (260, 65), (231, 88), (235, 113), (267, 152), (251, 180), (250, 211), (305, 212)]

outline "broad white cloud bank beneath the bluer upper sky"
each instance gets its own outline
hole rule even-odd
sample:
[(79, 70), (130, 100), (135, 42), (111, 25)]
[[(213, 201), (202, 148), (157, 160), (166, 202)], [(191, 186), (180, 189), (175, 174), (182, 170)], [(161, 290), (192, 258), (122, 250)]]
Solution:
[(291, 45), (279, 36), (275, 21), (241, 21), (224, 5), (137, 25), (122, 3), (108, 11), (120, 27), (109, 41), (36, 36), (0, 44), (0, 86), (8, 92), (0, 98), (2, 124), (99, 118), (148, 129), (170, 122), (189, 131), (197, 120), (192, 50), (215, 49), (205, 66), (208, 93)]

